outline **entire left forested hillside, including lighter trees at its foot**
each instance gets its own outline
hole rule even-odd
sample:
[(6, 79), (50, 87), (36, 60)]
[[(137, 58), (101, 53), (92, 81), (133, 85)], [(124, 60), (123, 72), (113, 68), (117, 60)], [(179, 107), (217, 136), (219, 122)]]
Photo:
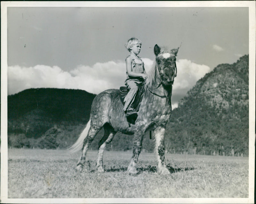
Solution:
[(68, 146), (89, 120), (94, 97), (82, 90), (51, 88), (28, 89), (8, 96), (8, 144)]

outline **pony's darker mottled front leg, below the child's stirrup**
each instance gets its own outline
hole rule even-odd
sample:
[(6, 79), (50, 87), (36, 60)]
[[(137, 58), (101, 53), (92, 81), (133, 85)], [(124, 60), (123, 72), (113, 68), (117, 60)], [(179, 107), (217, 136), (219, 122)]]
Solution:
[(140, 155), (141, 148), (142, 148), (143, 135), (144, 135), (144, 132), (137, 132), (134, 134), (134, 144), (133, 144), (134, 146), (133, 146), (133, 152), (132, 152), (132, 160), (127, 169), (127, 172), (129, 175), (138, 174), (136, 165), (137, 165), (138, 157)]

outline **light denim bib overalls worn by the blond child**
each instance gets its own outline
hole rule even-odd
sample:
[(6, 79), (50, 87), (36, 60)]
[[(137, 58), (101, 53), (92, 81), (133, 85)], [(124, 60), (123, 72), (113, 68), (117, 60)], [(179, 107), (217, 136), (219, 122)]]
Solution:
[[(128, 57), (132, 58), (131, 56), (128, 56)], [(132, 72), (145, 73), (144, 62), (141, 60), (140, 57), (139, 59), (140, 60), (132, 59)], [(127, 72), (126, 72), (126, 76), (127, 78), (125, 80), (125, 85), (126, 85), (126, 88), (129, 90), (129, 92), (124, 98), (124, 102), (125, 102), (124, 111), (127, 111), (130, 108), (132, 108), (132, 103), (138, 91), (137, 84), (142, 84), (144, 82), (144, 79), (142, 77), (129, 77)]]

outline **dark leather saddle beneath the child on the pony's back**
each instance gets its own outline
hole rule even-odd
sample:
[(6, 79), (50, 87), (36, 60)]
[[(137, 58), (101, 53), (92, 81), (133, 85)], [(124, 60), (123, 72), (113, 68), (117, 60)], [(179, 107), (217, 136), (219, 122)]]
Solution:
[[(142, 98), (144, 96), (144, 93), (145, 93), (145, 88), (144, 88), (144, 85), (141, 85), (141, 84), (137, 84), (138, 85), (138, 91), (137, 91), (137, 94), (135, 96), (135, 99), (133, 101), (133, 108), (136, 110), (136, 112), (139, 111), (140, 109), (140, 103), (142, 101)], [(129, 91), (127, 90), (127, 88), (125, 86), (121, 86), (120, 87), (120, 100), (122, 102), (122, 104), (124, 105), (125, 102), (124, 102), (124, 98), (125, 96), (127, 95)]]

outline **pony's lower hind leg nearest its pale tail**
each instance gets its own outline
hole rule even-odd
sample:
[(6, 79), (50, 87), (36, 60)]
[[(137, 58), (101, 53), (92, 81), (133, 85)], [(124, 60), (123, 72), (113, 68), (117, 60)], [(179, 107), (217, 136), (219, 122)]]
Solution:
[(83, 149), (82, 149), (82, 155), (79, 160), (79, 162), (76, 164), (76, 169), (78, 171), (82, 171), (83, 167), (85, 165), (85, 157), (86, 157), (86, 152), (92, 143), (94, 137), (97, 135), (97, 133), (100, 131), (101, 127), (96, 128), (96, 127), (90, 127), (89, 132), (87, 137), (84, 139), (84, 144), (83, 144)]

